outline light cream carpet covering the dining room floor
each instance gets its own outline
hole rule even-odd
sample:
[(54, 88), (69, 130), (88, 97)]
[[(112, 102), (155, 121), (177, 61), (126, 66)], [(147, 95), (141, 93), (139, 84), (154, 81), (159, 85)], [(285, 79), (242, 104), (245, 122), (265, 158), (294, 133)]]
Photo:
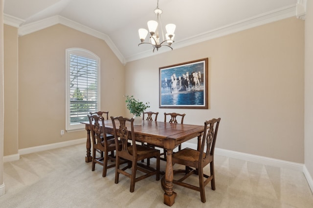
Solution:
[[(155, 176), (135, 184), (114, 168), (102, 177), (102, 167), (85, 162), (86, 145), (74, 145), (22, 155), (4, 163), (6, 194), (0, 208), (166, 208)], [(151, 160), (153, 166), (155, 159)], [(165, 170), (165, 162), (161, 161)], [(174, 169), (179, 168), (178, 165)], [(181, 168), (181, 167), (180, 167)], [(209, 170), (207, 167), (206, 170)], [(174, 185), (173, 208), (313, 208), (313, 195), (302, 172), (215, 155), (216, 190), (200, 192)], [(192, 178), (196, 183), (197, 176)]]

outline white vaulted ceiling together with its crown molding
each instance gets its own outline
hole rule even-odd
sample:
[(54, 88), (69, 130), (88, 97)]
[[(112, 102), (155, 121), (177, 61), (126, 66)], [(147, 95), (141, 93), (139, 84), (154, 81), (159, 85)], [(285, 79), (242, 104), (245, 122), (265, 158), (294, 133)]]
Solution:
[[(303, 0), (159, 0), (162, 24), (176, 24), (174, 50), (270, 21), (296, 16)], [(103, 38), (121, 62), (170, 51), (140, 45), (139, 28), (155, 19), (157, 0), (5, 0), (4, 23), (19, 35), (56, 23)], [(11, 24), (11, 25), (12, 25)]]

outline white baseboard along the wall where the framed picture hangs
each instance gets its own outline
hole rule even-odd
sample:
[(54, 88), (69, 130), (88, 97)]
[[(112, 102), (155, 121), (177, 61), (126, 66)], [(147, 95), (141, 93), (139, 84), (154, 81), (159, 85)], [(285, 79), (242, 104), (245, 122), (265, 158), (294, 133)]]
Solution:
[[(188, 143), (188, 142), (184, 142), (184, 143), (186, 144), (183, 145), (183, 147), (189, 147), (195, 150), (197, 149), (197, 144)], [(231, 158), (236, 158), (236, 159), (241, 159), (241, 160), (246, 160), (250, 162), (260, 163), (263, 165), (269, 165), (269, 166), (274, 166), (278, 168), (287, 168), (287, 169), (303, 172), (304, 164), (300, 164), (300, 163), (294, 163), (294, 162), (289, 162), (285, 160), (278, 160), (278, 159), (274, 159), (270, 157), (263, 157), (263, 156), (247, 154), (247, 153), (238, 152), (238, 151), (224, 150), (220, 148), (215, 148), (215, 154), (223, 155), (223, 156), (227, 156)]]

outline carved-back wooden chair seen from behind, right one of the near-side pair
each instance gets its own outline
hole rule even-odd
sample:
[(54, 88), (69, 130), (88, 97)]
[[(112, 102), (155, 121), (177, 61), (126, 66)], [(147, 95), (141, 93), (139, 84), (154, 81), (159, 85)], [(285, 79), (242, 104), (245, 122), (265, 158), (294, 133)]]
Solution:
[[(115, 165), (115, 184), (118, 183), (119, 174), (129, 177), (131, 179), (130, 192), (134, 192), (135, 182), (140, 181), (152, 175), (156, 175), (156, 180), (160, 179), (160, 151), (149, 148), (147, 146), (137, 145), (134, 134), (134, 118), (125, 118), (122, 116), (113, 117), (111, 116), (113, 124), (113, 133), (115, 136), (116, 144), (116, 165)], [(116, 128), (115, 121), (118, 121), (119, 127)], [(122, 143), (122, 146), (118, 146), (118, 137)], [(131, 143), (128, 142), (131, 140)], [(142, 163), (137, 163), (142, 159), (156, 157), (156, 169), (146, 166)], [(126, 167), (120, 168), (120, 159), (128, 160), (129, 163)], [(125, 170), (132, 169), (131, 173)], [(139, 170), (144, 174), (136, 177), (136, 171)]]

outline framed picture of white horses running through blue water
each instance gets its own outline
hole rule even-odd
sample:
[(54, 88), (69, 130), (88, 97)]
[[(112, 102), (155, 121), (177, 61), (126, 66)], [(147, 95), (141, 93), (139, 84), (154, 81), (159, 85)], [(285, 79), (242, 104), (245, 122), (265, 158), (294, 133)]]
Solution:
[(159, 68), (159, 108), (208, 108), (208, 58)]

